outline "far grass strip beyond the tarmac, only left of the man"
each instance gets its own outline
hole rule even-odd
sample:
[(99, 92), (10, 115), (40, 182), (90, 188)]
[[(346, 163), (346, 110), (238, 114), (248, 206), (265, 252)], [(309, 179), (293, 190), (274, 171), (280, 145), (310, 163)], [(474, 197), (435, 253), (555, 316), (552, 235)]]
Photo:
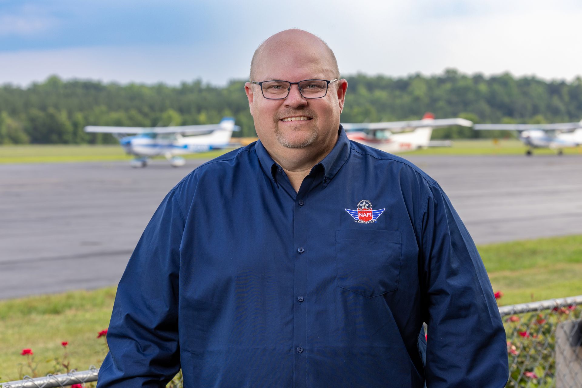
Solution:
[[(184, 155), (187, 159), (216, 158), (230, 149)], [(130, 161), (119, 145), (0, 145), (2, 163), (51, 163), (51, 162), (111, 162)], [(164, 159), (164, 158), (161, 158)]]

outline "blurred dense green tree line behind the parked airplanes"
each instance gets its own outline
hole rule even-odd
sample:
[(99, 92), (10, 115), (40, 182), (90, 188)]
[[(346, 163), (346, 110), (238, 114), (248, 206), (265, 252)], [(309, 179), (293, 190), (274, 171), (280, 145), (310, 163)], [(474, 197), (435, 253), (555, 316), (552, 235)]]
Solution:
[[(467, 75), (455, 69), (407, 77), (345, 76), (346, 123), (462, 117), (475, 123), (573, 122), (582, 118), (582, 79)], [(107, 144), (110, 134), (87, 134), (86, 125), (154, 127), (218, 123), (232, 116), (256, 136), (244, 80), (212, 86), (201, 80), (179, 86), (102, 83), (48, 77), (21, 88), (0, 86), (0, 144)], [(433, 138), (507, 136), (502, 131), (450, 127)]]

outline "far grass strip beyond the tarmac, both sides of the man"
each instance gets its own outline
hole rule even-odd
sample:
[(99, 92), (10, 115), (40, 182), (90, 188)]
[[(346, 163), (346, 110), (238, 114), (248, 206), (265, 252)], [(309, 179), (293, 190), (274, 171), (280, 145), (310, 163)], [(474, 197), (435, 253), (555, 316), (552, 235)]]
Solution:
[[(211, 159), (229, 149), (184, 155), (187, 159)], [(406, 152), (402, 155), (523, 155), (526, 147), (519, 140), (455, 140), (453, 147), (428, 148)], [(547, 148), (534, 150), (535, 156), (555, 155)], [(582, 148), (566, 148), (566, 155), (582, 155)], [(49, 162), (110, 162), (129, 161), (119, 145), (0, 145), (2, 163), (49, 163)]]

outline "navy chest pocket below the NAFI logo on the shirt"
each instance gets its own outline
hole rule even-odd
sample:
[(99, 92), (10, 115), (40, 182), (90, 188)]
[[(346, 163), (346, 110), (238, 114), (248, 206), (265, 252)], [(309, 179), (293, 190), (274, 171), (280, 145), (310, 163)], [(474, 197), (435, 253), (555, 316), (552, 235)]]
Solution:
[(338, 287), (371, 298), (398, 289), (400, 232), (345, 229), (335, 233)]

